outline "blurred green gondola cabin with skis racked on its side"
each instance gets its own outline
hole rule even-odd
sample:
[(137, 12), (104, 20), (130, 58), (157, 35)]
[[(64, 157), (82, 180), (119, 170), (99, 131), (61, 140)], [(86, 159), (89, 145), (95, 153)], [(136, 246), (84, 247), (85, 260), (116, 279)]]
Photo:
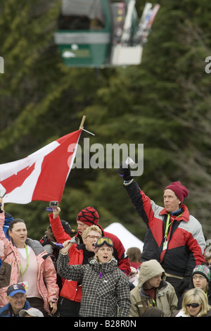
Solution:
[(136, 0), (63, 0), (54, 42), (68, 67), (107, 68), (141, 63), (160, 5)]

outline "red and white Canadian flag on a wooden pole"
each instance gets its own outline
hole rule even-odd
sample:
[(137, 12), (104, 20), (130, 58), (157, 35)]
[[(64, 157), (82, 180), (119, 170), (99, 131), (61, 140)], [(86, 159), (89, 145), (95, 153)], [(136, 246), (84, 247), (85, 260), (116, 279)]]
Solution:
[(0, 165), (4, 202), (61, 201), (82, 130), (47, 144), (30, 156)]

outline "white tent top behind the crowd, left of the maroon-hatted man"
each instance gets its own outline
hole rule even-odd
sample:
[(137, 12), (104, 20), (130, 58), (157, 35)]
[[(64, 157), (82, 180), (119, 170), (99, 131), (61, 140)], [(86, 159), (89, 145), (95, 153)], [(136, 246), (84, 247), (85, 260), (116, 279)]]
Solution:
[(115, 222), (105, 227), (104, 230), (116, 235), (121, 240), (125, 251), (130, 247), (138, 247), (141, 249), (141, 252), (143, 251), (143, 242), (132, 235), (122, 224)]

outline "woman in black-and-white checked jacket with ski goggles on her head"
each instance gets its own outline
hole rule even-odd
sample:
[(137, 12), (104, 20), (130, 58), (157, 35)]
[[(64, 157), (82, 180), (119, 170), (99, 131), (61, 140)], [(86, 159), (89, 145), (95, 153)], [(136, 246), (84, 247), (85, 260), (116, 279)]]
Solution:
[(68, 240), (63, 243), (58, 255), (57, 271), (60, 277), (82, 284), (79, 316), (129, 317), (129, 279), (117, 266), (112, 239), (98, 238), (94, 258), (86, 265), (68, 264), (70, 246)]

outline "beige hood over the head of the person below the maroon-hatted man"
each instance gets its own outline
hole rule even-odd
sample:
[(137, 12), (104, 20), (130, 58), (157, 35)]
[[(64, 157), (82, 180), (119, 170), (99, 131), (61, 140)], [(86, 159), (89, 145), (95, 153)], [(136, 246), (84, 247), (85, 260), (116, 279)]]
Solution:
[(165, 280), (165, 270), (160, 266), (157, 260), (150, 260), (143, 262), (139, 270), (139, 288), (151, 278), (160, 275), (162, 273), (162, 280)]

